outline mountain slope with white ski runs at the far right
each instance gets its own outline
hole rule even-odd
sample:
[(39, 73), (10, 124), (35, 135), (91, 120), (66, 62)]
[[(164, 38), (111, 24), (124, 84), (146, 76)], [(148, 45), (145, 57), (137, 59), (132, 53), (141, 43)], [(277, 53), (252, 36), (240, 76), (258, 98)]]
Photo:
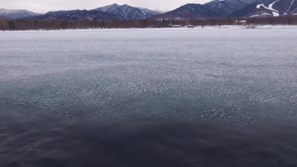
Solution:
[(234, 17), (277, 17), (297, 14), (297, 0), (269, 0), (234, 12)]

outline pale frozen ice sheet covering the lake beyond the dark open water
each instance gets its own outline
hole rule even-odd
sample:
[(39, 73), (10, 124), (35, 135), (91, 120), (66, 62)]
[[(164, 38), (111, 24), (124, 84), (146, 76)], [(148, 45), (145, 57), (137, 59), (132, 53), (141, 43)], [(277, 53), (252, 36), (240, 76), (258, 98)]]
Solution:
[(0, 32), (14, 116), (297, 118), (297, 29)]

